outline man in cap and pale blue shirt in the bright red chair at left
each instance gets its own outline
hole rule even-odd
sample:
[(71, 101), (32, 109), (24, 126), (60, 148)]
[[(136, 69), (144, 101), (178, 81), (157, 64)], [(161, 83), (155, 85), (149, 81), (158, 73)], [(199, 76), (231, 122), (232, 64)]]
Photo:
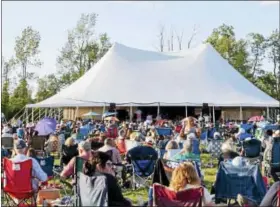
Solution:
[(16, 156), (11, 158), (12, 162), (20, 163), (29, 159), (32, 160), (32, 177), (33, 177), (32, 187), (34, 191), (37, 191), (39, 186), (39, 181), (46, 182), (48, 180), (47, 174), (42, 170), (37, 160), (35, 160), (32, 157), (27, 157), (25, 155), (27, 151), (27, 145), (25, 141), (23, 141), (22, 139), (16, 140), (14, 144), (14, 151)]

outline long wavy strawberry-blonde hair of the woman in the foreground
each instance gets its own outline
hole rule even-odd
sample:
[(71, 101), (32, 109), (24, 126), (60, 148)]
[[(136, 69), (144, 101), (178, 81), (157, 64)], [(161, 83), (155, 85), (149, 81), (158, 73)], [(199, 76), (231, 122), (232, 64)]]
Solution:
[(187, 184), (200, 186), (201, 182), (191, 162), (181, 163), (172, 173), (169, 187), (178, 192), (184, 190)]

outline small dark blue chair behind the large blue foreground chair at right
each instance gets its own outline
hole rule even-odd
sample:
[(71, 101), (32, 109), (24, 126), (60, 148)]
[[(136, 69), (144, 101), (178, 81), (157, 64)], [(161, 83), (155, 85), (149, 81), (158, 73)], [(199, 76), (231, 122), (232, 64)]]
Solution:
[(249, 139), (242, 142), (244, 157), (252, 164), (260, 162), (262, 143), (258, 139)]

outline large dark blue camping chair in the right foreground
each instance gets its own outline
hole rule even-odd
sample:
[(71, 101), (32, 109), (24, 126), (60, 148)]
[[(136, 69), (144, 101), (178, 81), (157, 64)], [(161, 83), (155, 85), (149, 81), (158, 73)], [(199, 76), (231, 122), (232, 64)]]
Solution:
[(227, 205), (241, 194), (256, 201), (258, 204), (266, 194), (266, 187), (258, 165), (233, 166), (221, 162), (215, 182), (216, 204), (227, 200)]

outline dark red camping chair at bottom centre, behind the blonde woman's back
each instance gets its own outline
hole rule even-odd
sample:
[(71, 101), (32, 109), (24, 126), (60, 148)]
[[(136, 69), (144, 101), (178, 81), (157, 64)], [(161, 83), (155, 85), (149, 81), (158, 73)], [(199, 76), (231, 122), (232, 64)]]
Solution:
[(153, 185), (153, 206), (202, 206), (203, 188), (175, 192), (164, 185)]

